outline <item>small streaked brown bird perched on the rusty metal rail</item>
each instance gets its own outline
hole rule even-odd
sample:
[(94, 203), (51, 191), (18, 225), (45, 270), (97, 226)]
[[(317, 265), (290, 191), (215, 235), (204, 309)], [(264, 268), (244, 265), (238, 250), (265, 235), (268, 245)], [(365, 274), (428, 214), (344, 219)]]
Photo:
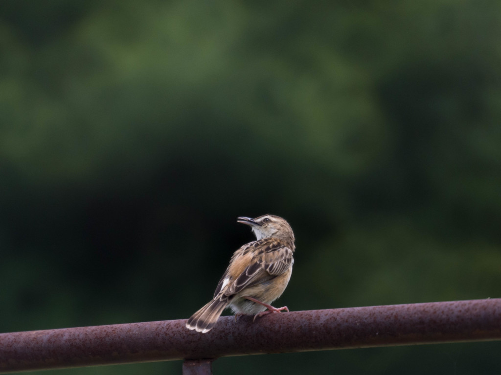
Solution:
[(291, 226), (269, 214), (254, 219), (242, 216), (237, 221), (250, 225), (257, 240), (234, 252), (214, 298), (188, 319), (186, 328), (208, 332), (227, 306), (236, 315), (256, 314), (255, 320), (270, 312), (289, 311), (287, 306), (276, 308), (270, 303), (282, 295), (291, 278), (295, 250)]

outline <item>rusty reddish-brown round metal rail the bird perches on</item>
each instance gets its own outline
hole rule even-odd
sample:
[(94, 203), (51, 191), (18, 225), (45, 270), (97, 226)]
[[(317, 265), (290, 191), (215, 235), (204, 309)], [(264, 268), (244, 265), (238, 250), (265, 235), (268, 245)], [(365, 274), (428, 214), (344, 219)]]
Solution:
[(0, 372), (228, 355), (501, 339), (501, 298), (220, 317), (0, 334)]

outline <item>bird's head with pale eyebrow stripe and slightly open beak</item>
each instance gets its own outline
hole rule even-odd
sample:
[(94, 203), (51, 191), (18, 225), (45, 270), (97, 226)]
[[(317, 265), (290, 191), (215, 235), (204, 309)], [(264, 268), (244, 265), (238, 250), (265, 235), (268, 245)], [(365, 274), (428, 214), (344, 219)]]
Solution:
[(256, 218), (240, 216), (236, 220), (242, 224), (250, 225), (256, 238), (276, 237), (289, 240), (294, 243), (294, 232), (291, 225), (282, 217), (276, 215), (263, 215)]

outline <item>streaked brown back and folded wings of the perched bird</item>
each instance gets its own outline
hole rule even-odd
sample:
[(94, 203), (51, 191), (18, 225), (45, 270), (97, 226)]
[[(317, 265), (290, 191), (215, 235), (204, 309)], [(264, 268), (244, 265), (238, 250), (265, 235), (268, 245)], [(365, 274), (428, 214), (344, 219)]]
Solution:
[(266, 238), (240, 247), (221, 277), (214, 296), (238, 293), (284, 273), (293, 263), (293, 251), (284, 243)]

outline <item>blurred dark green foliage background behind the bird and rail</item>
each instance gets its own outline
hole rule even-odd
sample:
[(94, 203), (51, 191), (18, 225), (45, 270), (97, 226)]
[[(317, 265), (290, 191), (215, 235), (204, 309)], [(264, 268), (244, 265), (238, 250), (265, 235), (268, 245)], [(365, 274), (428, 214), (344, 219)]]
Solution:
[[(2, 1), (0, 331), (187, 318), (240, 215), (292, 310), (499, 297), (501, 2)], [(499, 372), (499, 342), (217, 374)], [(43, 371), (180, 373), (181, 362)]]

